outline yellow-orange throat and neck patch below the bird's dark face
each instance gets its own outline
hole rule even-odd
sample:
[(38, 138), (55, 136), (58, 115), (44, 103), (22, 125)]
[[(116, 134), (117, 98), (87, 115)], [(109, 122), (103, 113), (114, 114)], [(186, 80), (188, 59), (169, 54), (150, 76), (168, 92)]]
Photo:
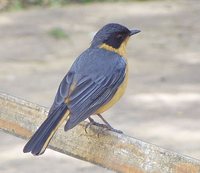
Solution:
[(119, 48), (114, 48), (106, 43), (103, 43), (101, 44), (99, 47), (101, 49), (105, 49), (105, 50), (108, 50), (108, 51), (111, 51), (111, 52), (115, 52), (117, 54), (119, 54), (120, 56), (122, 57), (125, 57), (126, 55), (126, 45), (127, 45), (127, 42), (128, 42), (128, 37), (122, 42), (122, 44), (120, 45)]

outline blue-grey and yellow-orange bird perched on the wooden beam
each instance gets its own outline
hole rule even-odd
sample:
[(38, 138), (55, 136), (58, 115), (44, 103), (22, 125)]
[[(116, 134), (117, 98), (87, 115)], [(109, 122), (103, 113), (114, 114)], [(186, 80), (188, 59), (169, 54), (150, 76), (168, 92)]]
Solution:
[(93, 37), (88, 49), (78, 56), (61, 81), (46, 120), (24, 146), (23, 152), (38, 156), (45, 152), (59, 126), (65, 121), (68, 131), (98, 115), (103, 127), (118, 131), (102, 117), (124, 94), (128, 82), (126, 45), (138, 29), (129, 30), (118, 23), (108, 23)]

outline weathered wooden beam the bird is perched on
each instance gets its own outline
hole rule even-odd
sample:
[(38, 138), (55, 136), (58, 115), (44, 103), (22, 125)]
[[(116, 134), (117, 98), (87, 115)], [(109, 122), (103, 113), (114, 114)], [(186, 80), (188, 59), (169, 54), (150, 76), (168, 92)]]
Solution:
[[(46, 108), (0, 93), (3, 131), (28, 139), (46, 116)], [(199, 160), (96, 126), (85, 133), (85, 125), (68, 132), (62, 126), (50, 148), (121, 173), (200, 173)]]

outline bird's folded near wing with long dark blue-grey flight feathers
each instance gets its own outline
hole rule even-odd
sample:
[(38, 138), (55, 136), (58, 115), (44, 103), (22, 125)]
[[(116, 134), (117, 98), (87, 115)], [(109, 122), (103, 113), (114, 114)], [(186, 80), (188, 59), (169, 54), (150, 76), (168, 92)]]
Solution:
[(82, 77), (68, 96), (70, 118), (65, 130), (71, 129), (108, 103), (125, 78), (125, 68), (118, 68), (111, 74), (99, 76), (95, 80)]

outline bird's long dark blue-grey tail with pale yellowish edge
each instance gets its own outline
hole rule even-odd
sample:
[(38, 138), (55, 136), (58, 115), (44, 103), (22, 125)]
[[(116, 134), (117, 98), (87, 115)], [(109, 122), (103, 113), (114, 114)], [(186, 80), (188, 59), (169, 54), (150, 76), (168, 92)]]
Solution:
[(46, 150), (51, 138), (58, 127), (69, 117), (67, 105), (63, 103), (42, 123), (39, 129), (25, 145), (23, 152), (31, 152), (33, 155), (41, 155)]

